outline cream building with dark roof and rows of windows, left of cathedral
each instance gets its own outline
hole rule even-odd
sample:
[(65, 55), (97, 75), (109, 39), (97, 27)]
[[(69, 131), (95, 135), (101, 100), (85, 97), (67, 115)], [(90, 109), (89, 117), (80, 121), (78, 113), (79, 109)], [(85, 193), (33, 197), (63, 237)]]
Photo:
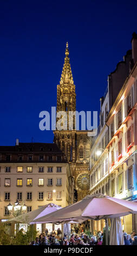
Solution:
[[(27, 211), (54, 203), (73, 203), (73, 177), (66, 156), (55, 143), (17, 143), (0, 147), (1, 219), (13, 217), (9, 202), (25, 203)], [(40, 227), (39, 227), (40, 228)]]

